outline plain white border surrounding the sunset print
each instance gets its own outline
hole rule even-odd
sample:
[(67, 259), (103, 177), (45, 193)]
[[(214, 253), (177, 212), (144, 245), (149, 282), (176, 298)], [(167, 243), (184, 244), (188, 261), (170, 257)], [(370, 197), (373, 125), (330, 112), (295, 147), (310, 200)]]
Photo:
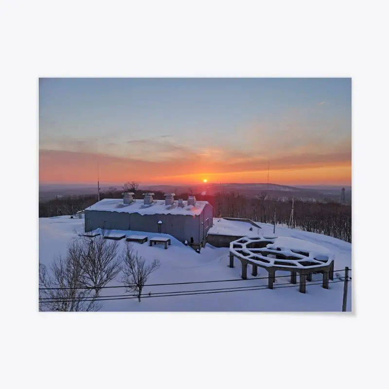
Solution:
[[(379, 131), (386, 133), (387, 127), (388, 32), (381, 4), (1, 2), (2, 378), (12, 383), (7, 387), (381, 386), (385, 359), (377, 359), (375, 345), (383, 344), (386, 321), (375, 317), (386, 312), (381, 301), (386, 275), (379, 258), (366, 269), (371, 251), (370, 241), (363, 239), (367, 232), (374, 242), (387, 240), (388, 143)], [(188, 75), (353, 77), (358, 321), (355, 304), (354, 318), (36, 313), (37, 77)], [(243, 327), (272, 328), (287, 336), (261, 337), (242, 332)], [(314, 340), (323, 327), (326, 338)], [(324, 376), (317, 374), (322, 361), (329, 366)]]

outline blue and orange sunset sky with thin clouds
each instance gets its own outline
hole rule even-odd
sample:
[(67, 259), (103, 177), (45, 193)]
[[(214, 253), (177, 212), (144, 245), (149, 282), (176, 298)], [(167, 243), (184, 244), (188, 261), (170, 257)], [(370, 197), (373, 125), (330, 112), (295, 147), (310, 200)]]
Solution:
[(40, 78), (39, 183), (351, 185), (351, 78)]

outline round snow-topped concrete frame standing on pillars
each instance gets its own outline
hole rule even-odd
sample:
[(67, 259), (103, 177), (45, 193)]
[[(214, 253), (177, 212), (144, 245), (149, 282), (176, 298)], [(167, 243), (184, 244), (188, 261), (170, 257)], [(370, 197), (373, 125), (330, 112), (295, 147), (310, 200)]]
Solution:
[[(277, 240), (283, 239), (280, 245)], [(299, 241), (301, 244), (299, 245)], [(286, 242), (286, 243), (285, 243)], [(292, 248), (285, 247), (291, 243)], [(258, 266), (267, 270), (268, 288), (273, 289), (277, 270), (290, 271), (290, 282), (297, 283), (300, 275), (300, 292), (305, 293), (306, 281), (312, 281), (313, 273), (323, 274), (323, 288), (328, 289), (329, 280), (334, 279), (335, 255), (318, 245), (314, 250), (296, 249), (304, 247), (304, 241), (289, 237), (244, 237), (230, 243), (230, 265), (234, 267), (234, 257), (242, 265), (242, 278), (247, 279), (247, 267), (252, 265), (252, 275), (258, 275)], [(311, 244), (312, 246), (312, 244)]]

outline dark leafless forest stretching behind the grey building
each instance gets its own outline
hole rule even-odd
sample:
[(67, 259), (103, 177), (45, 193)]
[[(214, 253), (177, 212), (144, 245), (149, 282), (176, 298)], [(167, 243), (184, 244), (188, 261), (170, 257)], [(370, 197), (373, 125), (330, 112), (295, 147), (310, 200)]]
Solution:
[[(133, 183), (126, 189), (134, 192), (135, 198), (143, 198), (145, 190), (138, 190), (138, 184)], [(100, 199), (121, 198), (122, 193), (123, 189), (111, 187), (100, 194)], [(163, 192), (154, 191), (154, 194), (156, 200), (165, 198)], [(179, 197), (186, 200), (189, 195), (194, 194), (180, 194)], [(206, 200), (212, 205), (214, 217), (241, 217), (261, 223), (289, 225), (292, 198), (274, 198), (265, 193), (248, 197), (236, 192), (195, 196), (197, 200)], [(39, 217), (74, 215), (96, 202), (97, 195), (56, 196), (51, 200), (39, 201)], [(351, 216), (351, 205), (339, 204), (330, 199), (294, 199), (293, 228), (299, 230), (317, 232), (351, 243)]]

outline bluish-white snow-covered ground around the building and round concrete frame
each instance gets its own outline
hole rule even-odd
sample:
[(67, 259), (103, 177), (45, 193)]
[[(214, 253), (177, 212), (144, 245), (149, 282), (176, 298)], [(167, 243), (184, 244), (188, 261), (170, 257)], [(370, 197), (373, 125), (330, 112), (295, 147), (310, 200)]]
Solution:
[[(214, 219), (214, 225), (223, 223), (225, 229), (236, 230), (246, 229), (247, 223), (235, 222), (227, 227), (229, 221), (218, 222)], [(238, 225), (236, 224), (238, 223)], [(273, 226), (258, 223), (262, 228), (260, 230), (264, 236), (273, 236)], [(218, 227), (219, 228), (219, 227)], [(67, 245), (71, 238), (76, 237), (77, 233), (83, 232), (84, 220), (71, 219), (69, 216), (59, 216), (52, 218), (39, 218), (39, 261), (45, 265), (50, 265), (53, 259), (59, 255), (65, 255)], [(254, 228), (255, 230), (255, 228)], [(253, 231), (249, 231), (252, 235)], [(155, 233), (138, 231), (118, 231), (112, 233), (125, 233), (126, 235), (146, 235), (148, 238), (155, 236)], [(312, 232), (299, 230), (290, 230), (285, 227), (276, 227), (276, 236), (288, 236), (306, 240), (310, 243), (318, 244), (327, 248), (335, 255), (335, 270), (344, 269), (345, 266), (351, 266), (351, 244)], [(169, 236), (163, 235), (161, 236)], [(170, 236), (169, 236), (170, 237)], [(119, 241), (120, 248), (124, 248), (124, 239)], [(207, 244), (196, 253), (192, 248), (183, 245), (177, 239), (171, 237), (171, 246), (165, 250), (163, 245), (153, 245), (148, 243), (143, 245), (133, 243), (133, 247), (139, 254), (152, 261), (159, 259), (161, 266), (152, 273), (147, 281), (148, 284), (160, 283), (183, 283), (195, 281), (214, 281), (214, 280), (235, 280), (240, 279), (241, 267), (236, 260), (235, 267), (228, 267), (229, 248), (214, 248)], [(238, 291), (198, 294), (192, 296), (165, 296), (153, 297), (156, 293), (170, 294), (171, 292), (187, 292), (196, 290), (209, 290), (220, 288), (236, 288), (242, 286), (266, 286), (267, 279), (258, 279), (267, 277), (265, 269), (258, 269), (258, 276), (251, 276), (251, 268), (248, 271), (248, 280), (222, 283), (200, 283), (184, 285), (165, 285), (165, 286), (146, 286), (143, 293), (151, 293), (151, 298), (144, 297), (141, 302), (136, 299), (109, 300), (101, 301), (101, 311), (322, 311), (339, 312), (342, 309), (343, 283), (330, 283), (330, 289), (326, 290), (318, 285), (310, 285), (322, 280), (320, 274), (312, 276), (312, 282), (307, 283), (306, 293), (299, 292), (298, 284), (294, 287), (281, 287), (280, 284), (288, 284), (289, 277), (276, 279), (273, 290), (257, 289)], [(343, 272), (335, 272), (343, 276)], [(277, 276), (287, 275), (287, 272), (277, 272)], [(352, 274), (351, 274), (352, 276)], [(336, 278), (334, 279), (334, 281)], [(121, 285), (119, 282), (109, 284)], [(290, 285), (290, 284), (288, 284)], [(349, 283), (347, 310), (351, 311), (352, 283)], [(216, 292), (216, 291), (213, 291)], [(105, 289), (102, 296), (124, 295), (124, 288)], [(161, 295), (155, 295), (161, 296)]]

